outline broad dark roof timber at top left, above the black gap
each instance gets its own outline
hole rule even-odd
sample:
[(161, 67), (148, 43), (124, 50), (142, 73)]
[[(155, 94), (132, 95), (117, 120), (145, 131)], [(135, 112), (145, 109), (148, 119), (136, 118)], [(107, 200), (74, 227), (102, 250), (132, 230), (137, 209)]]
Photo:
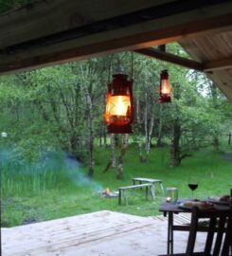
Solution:
[(0, 48), (174, 0), (49, 0), (0, 15)]

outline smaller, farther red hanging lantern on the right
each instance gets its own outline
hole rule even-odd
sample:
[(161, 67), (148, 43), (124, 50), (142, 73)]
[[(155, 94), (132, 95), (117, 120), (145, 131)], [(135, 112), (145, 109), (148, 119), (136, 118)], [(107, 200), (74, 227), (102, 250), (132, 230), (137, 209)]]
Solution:
[(160, 85), (159, 85), (159, 100), (158, 102), (170, 102), (170, 80), (168, 70), (163, 70), (160, 75)]

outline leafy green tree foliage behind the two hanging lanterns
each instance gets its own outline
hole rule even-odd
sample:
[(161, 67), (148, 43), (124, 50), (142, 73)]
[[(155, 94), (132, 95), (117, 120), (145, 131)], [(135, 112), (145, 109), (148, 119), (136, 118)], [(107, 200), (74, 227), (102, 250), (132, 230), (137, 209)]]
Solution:
[[(168, 45), (168, 50), (186, 54), (177, 44)], [(86, 94), (90, 94), (93, 104), (94, 137), (106, 137), (103, 114), (107, 83), (119, 65), (133, 77), (134, 102), (139, 101), (141, 123), (135, 116), (135, 141), (145, 136), (143, 113), (147, 109), (147, 126), (154, 119), (154, 143), (161, 122), (162, 139), (170, 142), (173, 121), (180, 120), (183, 152), (209, 145), (213, 137), (221, 137), (230, 129), (231, 104), (218, 92), (215, 107), (211, 82), (202, 74), (126, 52), (1, 77), (0, 130), (9, 134), (4, 143), (19, 159), (35, 160), (45, 151), (64, 150), (86, 162), (90, 143)], [(169, 69), (172, 95), (179, 90), (181, 97), (172, 97), (172, 103), (161, 106), (156, 101), (162, 69)]]

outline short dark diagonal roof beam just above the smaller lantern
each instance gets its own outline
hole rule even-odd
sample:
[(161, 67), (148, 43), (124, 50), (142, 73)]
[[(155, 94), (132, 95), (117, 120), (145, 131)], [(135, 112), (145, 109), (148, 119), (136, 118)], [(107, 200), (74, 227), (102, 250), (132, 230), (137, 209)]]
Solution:
[(135, 52), (140, 53), (142, 55), (152, 57), (161, 61), (165, 61), (171, 64), (179, 64), (181, 66), (195, 69), (198, 71), (203, 71), (204, 70), (204, 64), (179, 57), (177, 55), (162, 51), (162, 50), (157, 50), (154, 48), (144, 48), (144, 49), (137, 49)]

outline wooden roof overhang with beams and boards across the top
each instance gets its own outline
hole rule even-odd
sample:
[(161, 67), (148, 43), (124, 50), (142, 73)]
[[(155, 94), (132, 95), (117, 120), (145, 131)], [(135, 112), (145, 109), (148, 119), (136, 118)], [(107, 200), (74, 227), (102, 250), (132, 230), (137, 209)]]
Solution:
[[(0, 15), (0, 74), (135, 50), (204, 71), (232, 101), (232, 1), (37, 0)], [(152, 46), (178, 42), (193, 60)]]

